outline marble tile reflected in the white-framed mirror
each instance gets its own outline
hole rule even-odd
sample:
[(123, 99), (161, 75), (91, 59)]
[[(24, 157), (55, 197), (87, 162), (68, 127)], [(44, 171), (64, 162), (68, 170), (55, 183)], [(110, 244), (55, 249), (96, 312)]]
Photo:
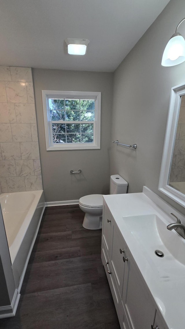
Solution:
[(181, 97), (170, 182), (185, 182), (185, 95)]

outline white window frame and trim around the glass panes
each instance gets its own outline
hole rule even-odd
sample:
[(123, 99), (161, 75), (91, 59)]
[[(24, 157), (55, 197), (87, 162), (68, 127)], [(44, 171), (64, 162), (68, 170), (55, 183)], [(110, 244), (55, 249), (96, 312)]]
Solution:
[[(48, 109), (48, 98), (81, 98), (81, 99), (95, 99), (95, 120), (94, 123), (94, 142), (93, 143), (53, 143), (52, 130), (50, 129), (50, 118)], [(42, 90), (42, 104), (44, 115), (44, 129), (46, 139), (46, 150), (88, 150), (100, 149), (100, 132), (101, 132), (101, 92), (94, 91), (60, 91), (60, 90)], [(89, 122), (89, 121), (88, 121)]]

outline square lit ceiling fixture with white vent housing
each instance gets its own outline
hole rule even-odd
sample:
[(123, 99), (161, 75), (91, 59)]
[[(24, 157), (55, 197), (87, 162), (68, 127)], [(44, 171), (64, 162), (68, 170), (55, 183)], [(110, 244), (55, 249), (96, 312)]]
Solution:
[(66, 52), (70, 55), (85, 55), (89, 44), (88, 39), (67, 38), (64, 40)]

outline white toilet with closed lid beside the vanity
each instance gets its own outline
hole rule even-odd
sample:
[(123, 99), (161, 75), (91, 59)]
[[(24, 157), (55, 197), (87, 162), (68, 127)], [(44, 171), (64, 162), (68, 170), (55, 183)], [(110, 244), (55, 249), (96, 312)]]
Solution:
[[(110, 194), (127, 193), (128, 183), (120, 175), (110, 176)], [(82, 196), (79, 207), (85, 213), (83, 227), (88, 230), (102, 228), (103, 195), (90, 194)]]

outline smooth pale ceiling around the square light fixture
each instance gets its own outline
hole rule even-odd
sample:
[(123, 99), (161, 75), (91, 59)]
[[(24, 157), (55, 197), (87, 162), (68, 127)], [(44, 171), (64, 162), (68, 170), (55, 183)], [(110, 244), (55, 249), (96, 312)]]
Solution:
[[(0, 65), (113, 72), (169, 0), (0, 0)], [(68, 55), (65, 38), (89, 39)]]

